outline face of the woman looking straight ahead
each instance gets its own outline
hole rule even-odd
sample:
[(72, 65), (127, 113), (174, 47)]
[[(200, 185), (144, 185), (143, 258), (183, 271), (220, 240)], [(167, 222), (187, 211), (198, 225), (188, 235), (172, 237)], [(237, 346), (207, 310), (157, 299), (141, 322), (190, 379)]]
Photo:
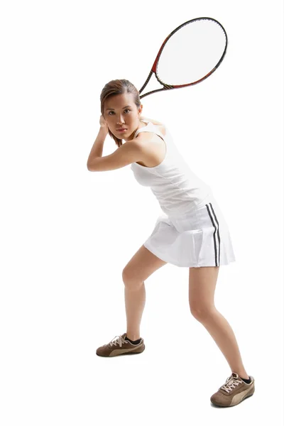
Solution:
[[(130, 141), (138, 128), (141, 107), (133, 102), (132, 93), (116, 94), (104, 102), (104, 119), (114, 136), (124, 141)], [(119, 128), (126, 129), (119, 131)]]

